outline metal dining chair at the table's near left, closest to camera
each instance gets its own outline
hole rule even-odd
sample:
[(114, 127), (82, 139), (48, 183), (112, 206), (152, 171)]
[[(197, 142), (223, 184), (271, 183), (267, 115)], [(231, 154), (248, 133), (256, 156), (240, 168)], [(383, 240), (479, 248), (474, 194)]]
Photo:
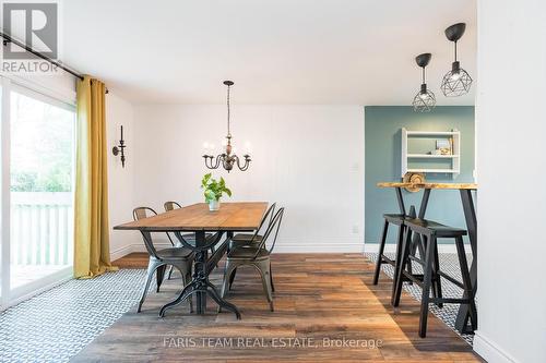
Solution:
[[(140, 220), (156, 215), (157, 213), (149, 207), (138, 207), (133, 209), (134, 220)], [(144, 285), (144, 291), (142, 292), (142, 298), (139, 302), (139, 308), (136, 310), (136, 312), (139, 313), (142, 308), (144, 300), (146, 299), (147, 290), (150, 289), (150, 282), (152, 281), (154, 273), (157, 283), (156, 292), (159, 292), (159, 287), (162, 286), (163, 278), (165, 276), (165, 269), (167, 266), (170, 266), (170, 271), (173, 271), (173, 268), (177, 268), (180, 271), (180, 274), (182, 275), (183, 286), (191, 282), (191, 266), (194, 256), (193, 252), (183, 246), (178, 246), (173, 242), (170, 235), (168, 233), (166, 234), (170, 241), (170, 244), (173, 244), (173, 247), (157, 251), (152, 241), (151, 233), (142, 232), (142, 239), (144, 240), (144, 245), (146, 246), (146, 251), (150, 255), (150, 261), (147, 263), (146, 283)], [(193, 311), (193, 304), (191, 300), (190, 310)]]

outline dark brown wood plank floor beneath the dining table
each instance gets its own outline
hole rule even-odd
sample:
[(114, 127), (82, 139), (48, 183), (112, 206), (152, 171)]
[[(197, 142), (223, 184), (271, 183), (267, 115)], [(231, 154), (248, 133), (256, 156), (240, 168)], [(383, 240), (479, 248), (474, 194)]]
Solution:
[[(115, 262), (121, 268), (143, 268), (146, 263), (145, 254)], [(221, 271), (211, 278), (216, 286)], [(230, 313), (216, 314), (213, 303), (204, 316), (189, 314), (183, 304), (158, 318), (159, 306), (180, 289), (176, 276), (162, 292), (150, 293), (142, 313), (131, 310), (73, 361), (480, 361), (432, 315), (428, 337), (419, 338), (417, 302), (405, 294), (393, 310), (391, 281), (383, 276), (372, 286), (372, 264), (359, 254), (276, 254), (275, 312), (269, 311), (258, 273), (242, 269), (229, 295), (241, 310), (239, 322)], [(312, 347), (305, 347), (304, 338), (312, 339)], [(343, 344), (344, 339), (356, 346), (323, 347), (324, 341)]]

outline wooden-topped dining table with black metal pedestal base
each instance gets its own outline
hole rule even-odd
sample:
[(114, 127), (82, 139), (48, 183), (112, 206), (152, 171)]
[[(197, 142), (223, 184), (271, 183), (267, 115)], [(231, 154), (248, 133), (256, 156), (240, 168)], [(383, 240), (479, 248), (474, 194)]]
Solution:
[[(240, 312), (218, 293), (209, 280), (209, 275), (227, 252), (229, 239), (235, 232), (254, 231), (260, 227), (268, 208), (266, 202), (222, 203), (218, 210), (210, 210), (205, 203), (198, 203), (173, 209), (149, 218), (114, 227), (115, 230), (136, 230), (144, 239), (152, 241), (154, 232), (174, 233), (187, 249), (195, 253), (194, 273), (190, 283), (183, 287), (178, 297), (159, 310), (159, 316), (192, 294), (197, 295), (197, 313), (206, 312), (206, 297), (210, 295), (221, 307), (235, 313), (240, 319)], [(194, 234), (194, 239), (185, 239), (182, 232)], [(224, 234), (226, 238), (223, 240)], [(209, 251), (214, 247), (214, 252)]]

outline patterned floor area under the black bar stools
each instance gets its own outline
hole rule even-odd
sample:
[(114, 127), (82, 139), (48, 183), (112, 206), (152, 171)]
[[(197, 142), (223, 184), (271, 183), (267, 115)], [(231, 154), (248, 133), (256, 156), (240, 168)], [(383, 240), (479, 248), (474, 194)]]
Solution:
[[(366, 257), (368, 257), (373, 263), (377, 262), (378, 254), (377, 253), (366, 253)], [(385, 253), (385, 255), (392, 259), (394, 259), (394, 253)], [(459, 258), (455, 253), (442, 253), (440, 254), (440, 269), (448, 275), (451, 275), (455, 279), (462, 281), (461, 278), (461, 268), (459, 267)], [(466, 254), (466, 258), (468, 262), (468, 266), (472, 263), (472, 254)], [(383, 264), (381, 269), (387, 276), (390, 278), (394, 275), (394, 267), (389, 264)], [(416, 274), (423, 274), (423, 268), (420, 268), (419, 264), (413, 264), (413, 270)], [(451, 281), (448, 281), (443, 277), (441, 278), (441, 287), (442, 294), (444, 298), (461, 298), (463, 294), (463, 290), (453, 285)], [(415, 300), (420, 301), (423, 290), (416, 285), (404, 283), (404, 290), (407, 291)], [(474, 340), (474, 335), (470, 334), (461, 334), (455, 329), (455, 319), (456, 313), (459, 312), (459, 304), (443, 304), (443, 307), (438, 307), (435, 304), (429, 305), (429, 311), (435, 314), (439, 319), (446, 323), (453, 331), (455, 331), (459, 336), (461, 336), (468, 344), (472, 346)]]

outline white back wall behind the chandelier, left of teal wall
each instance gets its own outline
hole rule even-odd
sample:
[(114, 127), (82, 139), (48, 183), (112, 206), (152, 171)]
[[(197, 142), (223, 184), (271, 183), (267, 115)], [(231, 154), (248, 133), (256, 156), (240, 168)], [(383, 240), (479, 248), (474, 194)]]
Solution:
[[(225, 106), (138, 106), (134, 118), (134, 205), (203, 202), (202, 144), (219, 150)], [(364, 108), (236, 106), (232, 121), (238, 154), (249, 141), (253, 161), (248, 171), (214, 174), (233, 189), (230, 201), (286, 207), (277, 251), (361, 252)]]

